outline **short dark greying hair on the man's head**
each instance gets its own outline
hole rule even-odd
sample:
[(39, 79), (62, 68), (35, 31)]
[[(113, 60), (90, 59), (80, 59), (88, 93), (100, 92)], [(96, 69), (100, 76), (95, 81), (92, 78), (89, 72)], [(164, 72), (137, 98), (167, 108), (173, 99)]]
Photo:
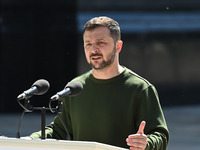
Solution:
[(107, 27), (109, 29), (110, 36), (115, 42), (121, 40), (120, 26), (118, 22), (105, 16), (95, 17), (89, 20), (84, 26), (83, 33), (85, 33), (86, 30), (92, 30), (100, 26)]

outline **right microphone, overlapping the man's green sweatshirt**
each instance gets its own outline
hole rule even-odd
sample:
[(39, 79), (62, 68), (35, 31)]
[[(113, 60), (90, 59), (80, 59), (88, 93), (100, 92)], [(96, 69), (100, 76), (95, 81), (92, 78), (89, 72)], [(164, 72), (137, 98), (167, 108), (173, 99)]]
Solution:
[(81, 82), (79, 81), (71, 81), (69, 82), (66, 87), (64, 88), (64, 90), (58, 92), (56, 95), (51, 97), (51, 100), (59, 100), (61, 98), (64, 98), (65, 96), (69, 95), (69, 96), (76, 96), (79, 93), (81, 93), (81, 91), (83, 90), (83, 85)]

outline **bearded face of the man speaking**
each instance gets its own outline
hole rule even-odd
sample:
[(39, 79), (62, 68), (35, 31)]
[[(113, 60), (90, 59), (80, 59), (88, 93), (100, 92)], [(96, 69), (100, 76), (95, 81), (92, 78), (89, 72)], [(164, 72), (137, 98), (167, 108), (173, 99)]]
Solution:
[(85, 31), (83, 35), (85, 55), (93, 69), (110, 66), (116, 56), (116, 45), (107, 27)]

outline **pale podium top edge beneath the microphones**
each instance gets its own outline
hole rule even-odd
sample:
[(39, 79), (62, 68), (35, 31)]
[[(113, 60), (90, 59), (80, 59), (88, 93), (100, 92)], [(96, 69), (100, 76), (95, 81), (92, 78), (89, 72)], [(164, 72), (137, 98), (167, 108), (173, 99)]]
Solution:
[(108, 144), (87, 141), (25, 140), (0, 137), (0, 150), (127, 150)]

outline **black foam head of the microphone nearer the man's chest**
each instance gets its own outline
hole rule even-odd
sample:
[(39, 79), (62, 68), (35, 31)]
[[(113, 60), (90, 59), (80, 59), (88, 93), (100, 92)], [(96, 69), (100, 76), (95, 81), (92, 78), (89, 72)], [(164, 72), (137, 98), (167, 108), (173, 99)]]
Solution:
[(69, 96), (76, 96), (83, 90), (83, 85), (79, 81), (71, 81), (66, 85), (66, 88), (70, 88), (71, 93), (68, 94)]

